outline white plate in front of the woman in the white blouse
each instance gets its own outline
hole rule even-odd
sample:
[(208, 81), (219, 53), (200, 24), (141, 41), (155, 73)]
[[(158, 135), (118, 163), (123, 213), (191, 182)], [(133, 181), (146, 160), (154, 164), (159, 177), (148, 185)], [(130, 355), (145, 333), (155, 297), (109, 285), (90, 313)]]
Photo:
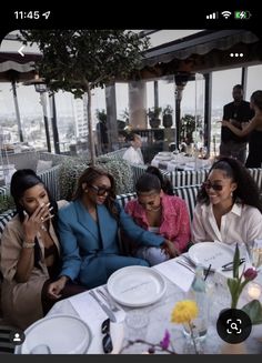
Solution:
[(222, 243), (201, 242), (189, 249), (189, 258), (205, 269), (211, 264), (211, 270), (214, 271), (233, 261), (234, 250)]

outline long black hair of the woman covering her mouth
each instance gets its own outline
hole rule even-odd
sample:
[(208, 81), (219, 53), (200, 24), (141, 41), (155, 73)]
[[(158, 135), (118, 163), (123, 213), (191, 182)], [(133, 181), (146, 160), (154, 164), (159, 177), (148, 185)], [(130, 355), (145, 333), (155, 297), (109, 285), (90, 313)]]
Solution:
[[(52, 199), (48, 188), (44, 185), (43, 181), (41, 178), (39, 178), (36, 172), (31, 169), (21, 169), (18, 170), (13, 173), (12, 179), (11, 179), (11, 184), (10, 184), (10, 192), (13, 198), (13, 201), (16, 203), (17, 208), (17, 214), (19, 215), (19, 220), (22, 223), (24, 220), (24, 208), (21, 204), (21, 198), (23, 196), (24, 192), (38, 184), (42, 184), (43, 188), (46, 189), (48, 196), (49, 196), (49, 202), (50, 202), (50, 208), (52, 206), (51, 214), (53, 214), (52, 223), (54, 226), (54, 230), (57, 229), (58, 224), (58, 204), (57, 202)], [(41, 252), (40, 252), (40, 246), (38, 239), (36, 236), (34, 239), (36, 246), (34, 246), (34, 265), (37, 268), (40, 268), (39, 261), (41, 259)]]

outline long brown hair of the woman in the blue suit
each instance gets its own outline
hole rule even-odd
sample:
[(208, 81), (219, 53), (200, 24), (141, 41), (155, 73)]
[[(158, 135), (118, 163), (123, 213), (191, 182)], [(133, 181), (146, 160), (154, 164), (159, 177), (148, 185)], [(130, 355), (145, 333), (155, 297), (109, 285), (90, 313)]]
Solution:
[(108, 177), (108, 179), (110, 180), (110, 183), (111, 183), (111, 190), (108, 194), (108, 198), (104, 201), (104, 205), (107, 206), (109, 212), (113, 215), (113, 218), (115, 218), (118, 220), (119, 211), (118, 211), (118, 208), (115, 204), (115, 182), (114, 182), (113, 177), (101, 168), (89, 167), (88, 169), (85, 169), (82, 172), (82, 174), (80, 175), (80, 178), (78, 180), (77, 191), (72, 199), (78, 200), (83, 196), (83, 193), (84, 193), (84, 191), (82, 189), (83, 183), (87, 183), (87, 185), (92, 185), (101, 177)]

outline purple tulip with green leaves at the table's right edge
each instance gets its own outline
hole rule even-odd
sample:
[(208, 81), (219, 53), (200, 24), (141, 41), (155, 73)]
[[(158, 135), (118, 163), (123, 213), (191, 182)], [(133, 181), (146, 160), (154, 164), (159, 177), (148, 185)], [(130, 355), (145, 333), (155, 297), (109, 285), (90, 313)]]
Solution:
[[(234, 259), (233, 259), (233, 278), (226, 280), (230, 294), (231, 294), (231, 309), (238, 309), (239, 298), (244, 289), (244, 286), (253, 281), (258, 272), (255, 269), (250, 268), (248, 270), (243, 269), (243, 272), (240, 274), (240, 251), (238, 244), (235, 245)], [(262, 323), (262, 306), (259, 300), (252, 300), (245, 304), (242, 309), (251, 319), (252, 324)]]

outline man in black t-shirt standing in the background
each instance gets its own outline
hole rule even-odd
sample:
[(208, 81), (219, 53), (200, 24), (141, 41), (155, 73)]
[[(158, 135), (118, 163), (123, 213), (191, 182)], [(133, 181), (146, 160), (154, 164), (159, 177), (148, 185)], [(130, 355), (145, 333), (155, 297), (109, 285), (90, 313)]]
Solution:
[[(254, 117), (254, 112), (250, 109), (250, 103), (243, 101), (243, 88), (241, 84), (233, 87), (232, 95), (234, 101), (225, 104), (223, 108), (223, 120), (230, 121), (239, 129), (243, 129), (244, 123)], [(244, 164), (246, 144), (248, 137), (240, 138), (229, 128), (221, 128), (220, 157), (232, 157)]]

